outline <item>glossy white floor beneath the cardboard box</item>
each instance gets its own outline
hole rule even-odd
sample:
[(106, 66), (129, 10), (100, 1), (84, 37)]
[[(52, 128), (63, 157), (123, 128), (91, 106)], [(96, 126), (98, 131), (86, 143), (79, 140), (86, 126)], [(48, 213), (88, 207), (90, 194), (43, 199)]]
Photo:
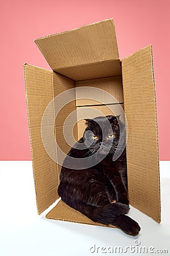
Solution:
[(117, 229), (38, 216), (31, 161), (1, 161), (0, 255), (170, 255), (170, 162), (160, 162), (160, 177), (162, 223), (131, 207), (129, 215), (139, 222), (141, 232), (129, 237)]

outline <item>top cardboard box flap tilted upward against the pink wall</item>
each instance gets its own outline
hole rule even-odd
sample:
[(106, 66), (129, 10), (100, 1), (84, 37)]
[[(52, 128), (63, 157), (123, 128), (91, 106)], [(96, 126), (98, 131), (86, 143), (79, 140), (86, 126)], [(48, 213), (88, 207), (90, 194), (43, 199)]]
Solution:
[(113, 19), (35, 40), (54, 71), (119, 59)]

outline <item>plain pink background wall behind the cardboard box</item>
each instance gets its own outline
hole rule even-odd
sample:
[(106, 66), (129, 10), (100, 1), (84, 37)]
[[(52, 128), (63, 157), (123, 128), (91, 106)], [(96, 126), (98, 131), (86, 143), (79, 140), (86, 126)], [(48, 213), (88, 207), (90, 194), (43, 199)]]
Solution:
[[(30, 160), (23, 63), (49, 68), (33, 40), (113, 18), (120, 59), (153, 44), (159, 158), (170, 160), (169, 0), (6, 0), (0, 3), (0, 160)], [(141, 134), (145, 136), (146, 134)]]

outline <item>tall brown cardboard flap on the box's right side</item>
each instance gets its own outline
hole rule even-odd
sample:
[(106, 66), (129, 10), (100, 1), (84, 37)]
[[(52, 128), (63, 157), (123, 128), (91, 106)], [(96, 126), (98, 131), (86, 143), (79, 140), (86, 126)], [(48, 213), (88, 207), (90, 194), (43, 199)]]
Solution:
[(160, 222), (158, 130), (152, 46), (122, 60), (130, 204)]

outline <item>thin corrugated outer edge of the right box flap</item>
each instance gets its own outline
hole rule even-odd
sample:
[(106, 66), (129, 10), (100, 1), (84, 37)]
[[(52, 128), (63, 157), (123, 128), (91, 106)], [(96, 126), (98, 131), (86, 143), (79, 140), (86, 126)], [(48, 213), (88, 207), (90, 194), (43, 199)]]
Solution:
[[(158, 150), (158, 175), (159, 175), (159, 195), (160, 195), (160, 167), (159, 167), (159, 141), (158, 141), (158, 116), (157, 116), (157, 108), (156, 108), (156, 91), (155, 91), (155, 75), (154, 75), (154, 58), (153, 58), (153, 46), (151, 46), (151, 59), (152, 59), (152, 76), (153, 76), (153, 84), (154, 84), (154, 97), (155, 97), (155, 112), (156, 112), (156, 139), (157, 139), (157, 150)], [(159, 197), (159, 221), (161, 222), (161, 203)]]

